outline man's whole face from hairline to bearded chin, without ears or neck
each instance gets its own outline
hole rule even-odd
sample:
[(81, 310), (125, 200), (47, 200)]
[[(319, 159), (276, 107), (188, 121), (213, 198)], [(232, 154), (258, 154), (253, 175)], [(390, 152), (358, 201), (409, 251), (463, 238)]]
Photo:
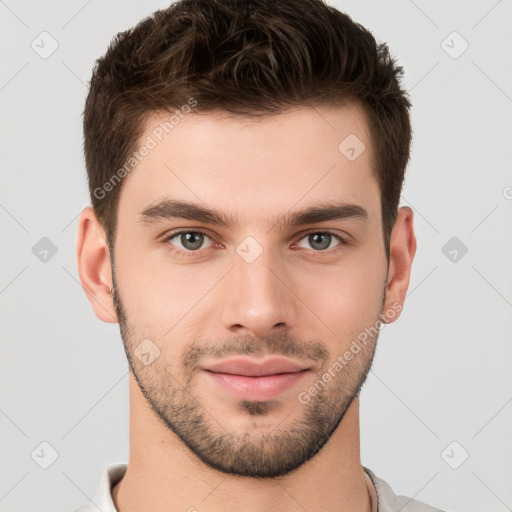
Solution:
[(210, 467), (286, 474), (359, 393), (377, 334), (354, 341), (385, 314), (388, 270), (371, 159), (355, 105), (189, 114), (125, 179), (111, 257), (131, 371)]

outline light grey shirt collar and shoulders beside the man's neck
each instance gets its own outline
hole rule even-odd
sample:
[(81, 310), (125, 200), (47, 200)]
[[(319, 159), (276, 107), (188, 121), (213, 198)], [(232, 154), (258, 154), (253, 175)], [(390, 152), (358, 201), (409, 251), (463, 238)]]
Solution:
[[(126, 473), (127, 464), (113, 464), (108, 466), (103, 472), (100, 485), (94, 495), (94, 503), (82, 505), (74, 512), (117, 512), (114, 501), (112, 500), (112, 487), (123, 478)], [(371, 494), (377, 498), (373, 503), (373, 509), (376, 512), (443, 512), (442, 510), (425, 505), (420, 501), (407, 498), (406, 496), (397, 496), (391, 487), (378, 478), (373, 471), (363, 466), (365, 473), (370, 477), (374, 489)], [(374, 492), (373, 492), (374, 491)]]

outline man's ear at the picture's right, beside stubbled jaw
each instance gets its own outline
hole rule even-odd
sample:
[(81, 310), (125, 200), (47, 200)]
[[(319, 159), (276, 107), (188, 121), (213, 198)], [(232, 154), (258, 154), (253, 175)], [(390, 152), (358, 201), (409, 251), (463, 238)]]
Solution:
[(411, 266), (416, 254), (416, 237), (413, 228), (413, 211), (408, 206), (398, 210), (391, 232), (386, 298), (381, 315), (383, 323), (394, 322), (403, 309)]

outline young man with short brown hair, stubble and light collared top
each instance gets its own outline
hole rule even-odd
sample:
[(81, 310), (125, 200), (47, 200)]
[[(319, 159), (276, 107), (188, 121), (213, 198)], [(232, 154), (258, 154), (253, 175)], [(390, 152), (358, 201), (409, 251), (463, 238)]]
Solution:
[(80, 510), (435, 510), (360, 461), (416, 250), (401, 73), (320, 0), (181, 0), (99, 59), (77, 256), (120, 325), (130, 456)]

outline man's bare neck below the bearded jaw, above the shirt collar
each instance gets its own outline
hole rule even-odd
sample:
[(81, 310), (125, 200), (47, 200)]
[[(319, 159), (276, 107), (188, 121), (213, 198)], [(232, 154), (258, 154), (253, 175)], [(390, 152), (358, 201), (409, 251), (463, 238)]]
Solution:
[(130, 457), (112, 494), (119, 512), (369, 512), (359, 399), (315, 457), (287, 475), (257, 479), (206, 466), (157, 419), (130, 374)]

